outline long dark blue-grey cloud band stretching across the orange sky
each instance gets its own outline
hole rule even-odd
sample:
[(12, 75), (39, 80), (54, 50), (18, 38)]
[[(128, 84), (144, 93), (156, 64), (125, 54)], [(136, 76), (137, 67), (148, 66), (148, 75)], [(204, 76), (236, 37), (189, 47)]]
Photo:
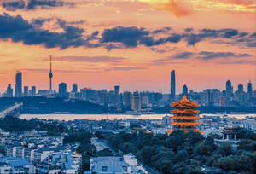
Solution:
[[(256, 33), (239, 32), (236, 29), (230, 28), (220, 30), (202, 29), (197, 32), (191, 28), (186, 29), (184, 32), (172, 32), (170, 28), (168, 31), (171, 32), (168, 32), (165, 38), (156, 38), (155, 35), (157, 33), (166, 33), (166, 28), (149, 31), (145, 28), (137, 28), (136, 26), (116, 26), (104, 29), (101, 34), (95, 31), (88, 35), (84, 29), (60, 19), (57, 20), (57, 23), (64, 32), (50, 32), (40, 28), (48, 20), (35, 19), (29, 22), (20, 15), (1, 14), (0, 39), (10, 39), (13, 42), (22, 42), (27, 45), (41, 44), (46, 48), (58, 47), (60, 49), (80, 46), (87, 48), (125, 49), (136, 48), (139, 45), (153, 47), (166, 43), (177, 44), (179, 42), (185, 42), (188, 46), (193, 46), (202, 41), (212, 39), (222, 39), (228, 44), (256, 47)], [(177, 58), (189, 56), (189, 52), (179, 56)], [(211, 59), (217, 55), (202, 53), (201, 56), (204, 59)]]

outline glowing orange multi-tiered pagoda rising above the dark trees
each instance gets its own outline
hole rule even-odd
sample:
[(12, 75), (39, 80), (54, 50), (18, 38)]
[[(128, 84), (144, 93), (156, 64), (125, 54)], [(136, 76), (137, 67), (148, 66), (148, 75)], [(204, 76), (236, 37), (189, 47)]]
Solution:
[(198, 131), (197, 125), (200, 125), (198, 113), (200, 111), (195, 110), (195, 108), (200, 107), (200, 105), (197, 102), (191, 102), (186, 96), (183, 96), (181, 101), (173, 102), (171, 107), (174, 108), (171, 111), (173, 113), (171, 124), (174, 131)]

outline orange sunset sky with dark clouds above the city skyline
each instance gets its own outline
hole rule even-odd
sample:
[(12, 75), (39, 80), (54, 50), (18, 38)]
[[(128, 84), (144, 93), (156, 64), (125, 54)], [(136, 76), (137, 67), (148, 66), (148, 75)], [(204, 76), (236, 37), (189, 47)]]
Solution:
[(0, 90), (256, 90), (254, 0), (1, 0)]

